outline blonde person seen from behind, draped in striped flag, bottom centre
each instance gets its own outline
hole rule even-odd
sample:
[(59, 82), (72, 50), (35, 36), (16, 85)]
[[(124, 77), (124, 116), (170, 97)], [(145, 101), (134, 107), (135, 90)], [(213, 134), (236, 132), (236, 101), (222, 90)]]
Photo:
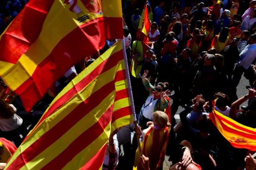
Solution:
[[(142, 154), (149, 158), (149, 168), (151, 170), (160, 170), (163, 168), (163, 161), (168, 143), (169, 130), (171, 126), (166, 113), (163, 111), (155, 111), (153, 120), (147, 122), (149, 126), (142, 132)], [(156, 137), (157, 136), (157, 137)], [(157, 142), (155, 142), (157, 140)], [(154, 149), (152, 149), (154, 148)], [(135, 167), (141, 170), (139, 164), (140, 153), (137, 150), (135, 156)]]

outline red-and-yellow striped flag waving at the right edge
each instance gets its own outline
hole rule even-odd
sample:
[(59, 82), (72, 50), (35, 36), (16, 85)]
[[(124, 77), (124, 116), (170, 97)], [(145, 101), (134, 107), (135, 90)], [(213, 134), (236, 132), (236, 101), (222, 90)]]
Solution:
[[(213, 102), (213, 108), (215, 103), (216, 100)], [(233, 147), (256, 151), (256, 129), (244, 126), (215, 109), (209, 114), (209, 117)]]

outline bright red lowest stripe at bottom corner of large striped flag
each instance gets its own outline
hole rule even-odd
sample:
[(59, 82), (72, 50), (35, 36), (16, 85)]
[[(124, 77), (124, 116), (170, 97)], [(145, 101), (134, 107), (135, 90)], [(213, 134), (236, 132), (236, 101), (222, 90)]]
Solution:
[(108, 144), (103, 146), (103, 148), (101, 148), (100, 151), (98, 151), (98, 153), (93, 156), (92, 159), (90, 159), (80, 170), (100, 169), (101, 164), (99, 164), (99, 162), (103, 162), (104, 160), (107, 145)]

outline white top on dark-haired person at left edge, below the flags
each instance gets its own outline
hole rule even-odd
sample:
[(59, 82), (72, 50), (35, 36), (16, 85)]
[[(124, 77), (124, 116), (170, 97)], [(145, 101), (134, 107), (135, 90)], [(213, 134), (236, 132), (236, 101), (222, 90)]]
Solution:
[[(16, 108), (12, 104), (10, 106), (16, 112)], [(11, 131), (21, 126), (22, 122), (23, 120), (17, 114), (14, 114), (10, 119), (0, 119), (0, 129), (2, 131)]]

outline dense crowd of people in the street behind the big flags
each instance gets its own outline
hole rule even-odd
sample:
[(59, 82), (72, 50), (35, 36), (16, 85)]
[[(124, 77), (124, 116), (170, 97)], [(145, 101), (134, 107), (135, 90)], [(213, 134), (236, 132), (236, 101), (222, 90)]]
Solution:
[[(0, 2), (1, 30), (25, 3)], [(148, 37), (140, 25), (145, 3)], [(122, 0), (122, 10), (138, 124), (110, 135), (102, 169), (161, 170), (167, 155), (170, 170), (255, 170), (253, 152), (230, 145), (209, 113), (215, 109), (256, 128), (256, 0)], [(116, 41), (107, 40), (97, 54), (69, 69), (56, 81), (56, 92)], [(250, 86), (238, 99), (243, 74)], [(18, 147), (33, 125), (27, 127), (19, 115), (24, 111), (19, 97), (2, 80), (0, 85), (0, 137)], [(30, 115), (44, 111), (51, 96), (49, 91)], [(177, 113), (179, 106), (184, 109)]]

